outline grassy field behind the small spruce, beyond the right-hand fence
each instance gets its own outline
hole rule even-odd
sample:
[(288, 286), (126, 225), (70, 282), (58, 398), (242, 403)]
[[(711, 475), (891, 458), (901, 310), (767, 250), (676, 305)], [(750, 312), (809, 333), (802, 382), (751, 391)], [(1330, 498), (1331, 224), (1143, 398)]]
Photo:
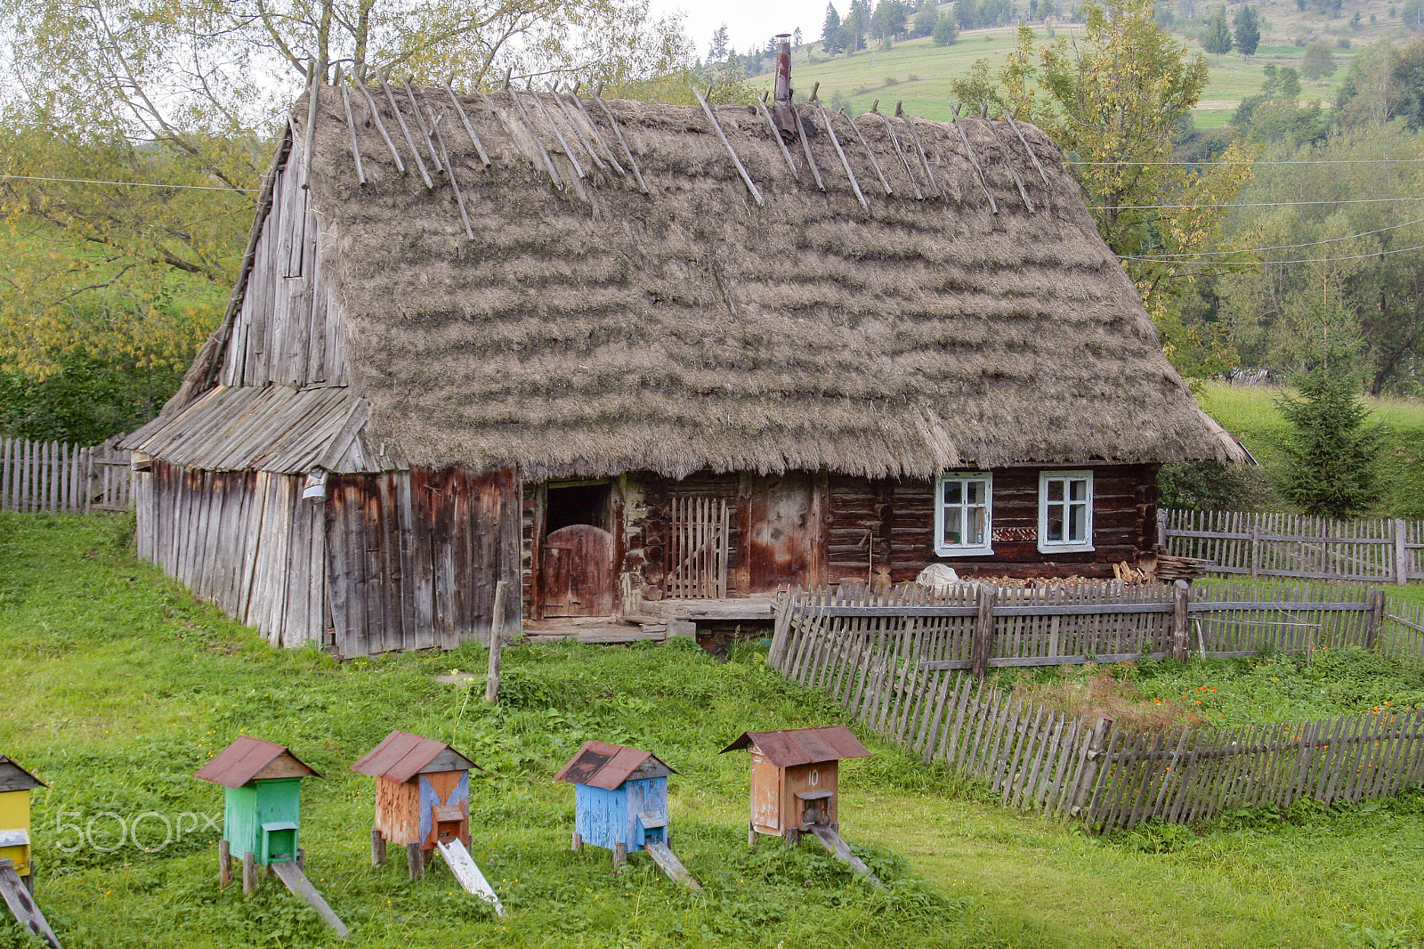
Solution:
[[(1280, 465), (1280, 437), (1286, 423), (1276, 409), (1280, 390), (1239, 388), (1219, 382), (1205, 382), (1196, 389), (1196, 400), (1223, 427), (1236, 435), (1262, 463), (1246, 472), (1260, 489), (1260, 503), (1282, 510), (1272, 500), (1269, 484)], [(1424, 517), (1424, 403), (1411, 399), (1370, 399), (1370, 423), (1384, 429), (1380, 450), (1381, 482), (1386, 496), (1376, 516)]]

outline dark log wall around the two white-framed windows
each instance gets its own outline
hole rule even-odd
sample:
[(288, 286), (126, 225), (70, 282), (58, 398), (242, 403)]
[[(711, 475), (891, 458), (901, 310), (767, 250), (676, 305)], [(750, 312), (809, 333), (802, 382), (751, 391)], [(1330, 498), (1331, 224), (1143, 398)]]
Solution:
[[(1057, 466), (1049, 470), (1061, 470)], [(1156, 543), (1156, 466), (1081, 466), (1094, 472), (1094, 550), (1038, 550), (1037, 467), (995, 469), (994, 554), (938, 557), (934, 553), (934, 483), (832, 477), (827, 512), (829, 580), (867, 580), (874, 564), (890, 564), (894, 581), (913, 580), (927, 564), (947, 563), (968, 576), (1111, 576)]]

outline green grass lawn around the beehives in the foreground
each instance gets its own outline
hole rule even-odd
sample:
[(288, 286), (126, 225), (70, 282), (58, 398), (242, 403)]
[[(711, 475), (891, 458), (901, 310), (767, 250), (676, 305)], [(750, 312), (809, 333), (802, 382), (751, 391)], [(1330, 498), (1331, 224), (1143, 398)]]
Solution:
[[(810, 845), (746, 846), (746, 759), (716, 751), (748, 728), (840, 721), (756, 648), (725, 664), (685, 643), (511, 648), (507, 701), (491, 708), (433, 681), (483, 668), (477, 647), (346, 664), (269, 650), (135, 563), (124, 524), (0, 516), (0, 750), (50, 784), (34, 814), (37, 896), (71, 948), (336, 945), (275, 881), (252, 899), (219, 892), (205, 822), (162, 845), (151, 816), (135, 835), (151, 852), (108, 849), (115, 818), (221, 815), (219, 788), (191, 774), (239, 732), (289, 744), (325, 775), (306, 782), (302, 835), (309, 876), (352, 925), (346, 945), (1279, 949), (1424, 933), (1418, 795), (1105, 841), (870, 741), (876, 757), (843, 772), (842, 831), (890, 883), (876, 893)], [(419, 885), (399, 861), (369, 866), (372, 781), (349, 765), (393, 727), (488, 769), (471, 782), (473, 851), (507, 919), (439, 861)], [(604, 852), (567, 851), (572, 792), (550, 778), (587, 738), (679, 771), (672, 844), (702, 895), (641, 856), (619, 876)], [(90, 828), (90, 842), (61, 852), (78, 838), (61, 824)], [(0, 946), (20, 945), (0, 925)]]

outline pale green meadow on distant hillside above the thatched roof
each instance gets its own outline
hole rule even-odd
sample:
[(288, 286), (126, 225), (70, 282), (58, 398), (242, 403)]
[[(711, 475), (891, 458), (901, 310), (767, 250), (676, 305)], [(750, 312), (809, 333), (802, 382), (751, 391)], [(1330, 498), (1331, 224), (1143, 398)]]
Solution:
[[(1058, 36), (1072, 37), (1081, 33), (1078, 24), (1058, 24)], [(1040, 31), (1041, 40), (1047, 36)], [(792, 57), (792, 76), (799, 94), (809, 95), (812, 85), (820, 83), (819, 97), (829, 101), (843, 94), (850, 100), (852, 113), (869, 111), (880, 100), (881, 111), (893, 111), (896, 101), (904, 101), (906, 113), (937, 121), (948, 121), (950, 80), (968, 73), (975, 60), (987, 58), (994, 71), (1004, 56), (1014, 47), (1015, 28), (974, 30), (960, 34), (950, 46), (934, 46), (928, 37), (896, 43), (889, 50), (862, 50), (852, 57), (827, 57), (819, 46), (799, 47)], [(1265, 80), (1262, 68), (1266, 63), (1294, 66), (1304, 53), (1299, 47), (1267, 47), (1245, 61), (1240, 54), (1208, 56), (1210, 83), (1202, 94), (1200, 105), (1192, 113), (1198, 128), (1216, 128), (1225, 124), (1240, 100), (1260, 91)], [(1190, 50), (1200, 48), (1192, 43)], [(1336, 88), (1349, 68), (1350, 50), (1334, 50), (1340, 68), (1334, 77), (1323, 83), (1306, 83), (1302, 98), (1320, 98), (1326, 103), (1334, 98)], [(753, 80), (758, 87), (770, 85), (770, 77)]]

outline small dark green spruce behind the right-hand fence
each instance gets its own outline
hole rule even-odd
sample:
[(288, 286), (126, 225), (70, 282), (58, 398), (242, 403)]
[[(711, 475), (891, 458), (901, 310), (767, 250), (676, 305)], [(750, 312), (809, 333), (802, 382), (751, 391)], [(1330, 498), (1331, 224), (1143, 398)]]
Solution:
[(1282, 443), (1280, 493), (1307, 514), (1350, 517), (1380, 499), (1380, 432), (1367, 427), (1370, 409), (1354, 382), (1321, 365), (1297, 379), (1299, 398), (1283, 395), (1290, 423)]

